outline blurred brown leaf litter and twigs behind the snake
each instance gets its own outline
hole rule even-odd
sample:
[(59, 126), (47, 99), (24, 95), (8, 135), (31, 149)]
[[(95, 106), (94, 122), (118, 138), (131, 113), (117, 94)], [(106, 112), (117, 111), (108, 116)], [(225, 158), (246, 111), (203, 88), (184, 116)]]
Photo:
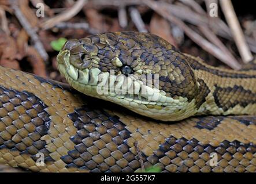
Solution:
[(56, 56), (66, 39), (133, 30), (238, 70), (256, 53), (255, 12), (242, 0), (0, 0), (0, 65), (65, 82)]

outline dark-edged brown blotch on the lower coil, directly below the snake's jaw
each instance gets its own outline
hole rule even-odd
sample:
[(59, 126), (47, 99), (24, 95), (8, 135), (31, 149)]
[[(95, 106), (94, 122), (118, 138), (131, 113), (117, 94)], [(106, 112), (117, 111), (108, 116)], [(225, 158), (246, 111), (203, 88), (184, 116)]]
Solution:
[[(88, 105), (75, 109), (68, 117), (78, 131), (70, 138), (76, 144), (75, 149), (61, 157), (66, 167), (91, 172), (135, 171), (140, 167), (127, 145), (131, 132), (125, 129), (119, 117), (110, 116), (104, 110)], [(130, 163), (120, 162), (118, 165), (116, 159), (120, 160), (120, 155)]]

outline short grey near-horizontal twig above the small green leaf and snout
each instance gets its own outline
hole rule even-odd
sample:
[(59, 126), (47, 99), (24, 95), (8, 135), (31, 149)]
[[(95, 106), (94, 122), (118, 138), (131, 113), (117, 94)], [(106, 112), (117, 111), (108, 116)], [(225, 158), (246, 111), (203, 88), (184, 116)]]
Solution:
[(59, 28), (59, 29), (66, 29), (66, 28), (69, 28), (69, 29), (84, 29), (84, 30), (87, 30), (91, 34), (99, 33), (99, 30), (94, 29), (94, 28), (90, 28), (90, 26), (87, 22), (83, 22), (83, 23), (60, 22), (58, 24), (55, 24), (54, 27)]

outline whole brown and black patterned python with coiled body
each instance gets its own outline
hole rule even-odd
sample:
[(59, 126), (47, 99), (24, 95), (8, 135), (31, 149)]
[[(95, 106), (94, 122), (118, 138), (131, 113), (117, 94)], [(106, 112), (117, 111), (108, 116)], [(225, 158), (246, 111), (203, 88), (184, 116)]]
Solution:
[(0, 67), (0, 164), (255, 173), (255, 63), (213, 67), (150, 33), (68, 40), (57, 66), (69, 84)]

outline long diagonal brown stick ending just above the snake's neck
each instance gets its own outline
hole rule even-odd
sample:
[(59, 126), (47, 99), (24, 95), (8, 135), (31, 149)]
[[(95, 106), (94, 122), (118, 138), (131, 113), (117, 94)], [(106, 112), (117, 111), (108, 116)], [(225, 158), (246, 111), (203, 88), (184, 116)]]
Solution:
[(179, 26), (181, 29), (184, 30), (185, 34), (190, 37), (191, 40), (193, 40), (196, 44), (198, 44), (200, 47), (202, 47), (205, 51), (211, 53), (213, 56), (220, 59), (222, 62), (226, 63), (228, 66), (239, 70), (240, 64), (236, 64), (233, 62), (230, 62), (230, 60), (227, 59), (227, 57), (224, 56), (224, 53), (217, 48), (215, 45), (210, 43), (209, 41), (205, 40), (202, 36), (200, 36), (198, 33), (194, 32), (190, 27), (184, 24), (183, 21), (180, 21), (178, 18), (172, 16), (168, 10), (165, 9), (165, 7), (159, 6), (159, 3), (155, 3), (151, 0), (146, 0), (146, 4), (153, 10), (157, 11), (158, 14), (165, 17), (170, 22), (173, 22), (177, 26)]

